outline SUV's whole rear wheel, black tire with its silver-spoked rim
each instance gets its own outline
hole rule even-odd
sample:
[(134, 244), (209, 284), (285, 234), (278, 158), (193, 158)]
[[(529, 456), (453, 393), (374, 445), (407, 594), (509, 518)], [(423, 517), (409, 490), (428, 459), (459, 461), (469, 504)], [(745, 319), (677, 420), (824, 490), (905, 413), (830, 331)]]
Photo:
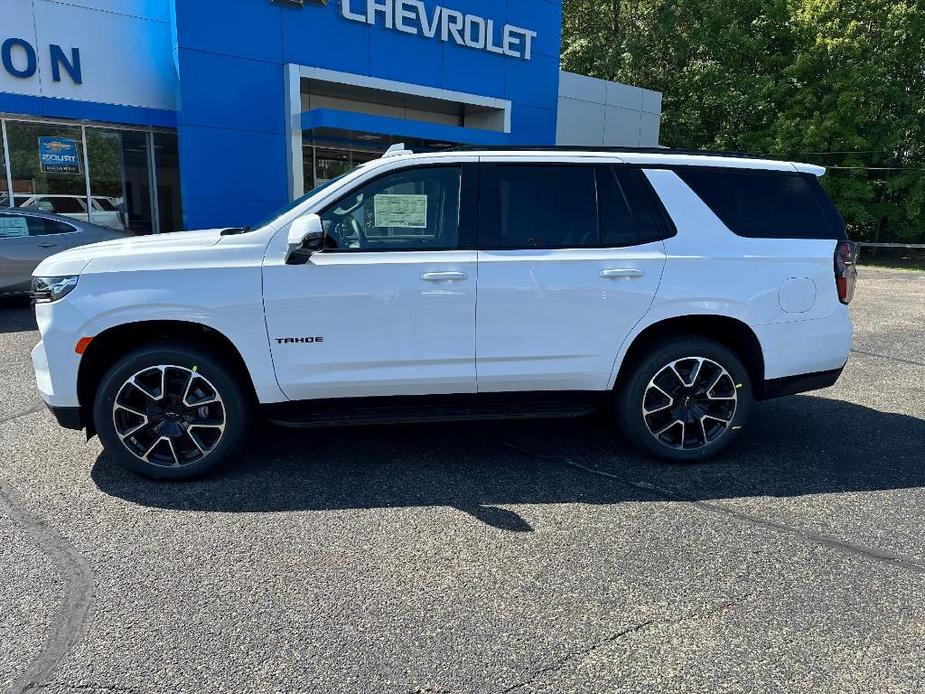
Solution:
[(748, 421), (748, 370), (718, 342), (671, 337), (629, 367), (617, 394), (617, 424), (645, 453), (678, 462), (708, 460)]

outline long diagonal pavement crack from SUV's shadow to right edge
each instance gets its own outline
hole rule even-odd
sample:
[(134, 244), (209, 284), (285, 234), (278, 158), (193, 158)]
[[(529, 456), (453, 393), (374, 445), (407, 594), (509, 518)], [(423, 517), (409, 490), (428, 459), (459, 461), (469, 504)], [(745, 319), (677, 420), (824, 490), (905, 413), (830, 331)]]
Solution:
[(668, 501), (677, 501), (681, 503), (686, 503), (694, 506), (701, 511), (711, 513), (714, 515), (722, 515), (728, 518), (734, 518), (751, 525), (767, 528), (769, 530), (774, 530), (777, 532), (785, 533), (788, 535), (794, 535), (803, 540), (812, 542), (817, 545), (821, 545), (828, 549), (835, 550), (841, 554), (848, 554), (852, 556), (862, 556), (866, 559), (872, 559), (874, 561), (879, 561), (882, 563), (890, 564), (899, 568), (907, 569), (909, 571), (914, 571), (915, 573), (925, 574), (925, 564), (911, 559), (909, 557), (900, 556), (898, 554), (892, 554), (880, 549), (873, 547), (867, 547), (865, 545), (860, 545), (854, 542), (849, 542), (847, 540), (839, 540), (835, 537), (830, 537), (828, 535), (822, 535), (821, 533), (816, 533), (811, 530), (805, 530), (792, 525), (787, 525), (785, 523), (778, 523), (777, 521), (772, 521), (767, 518), (761, 518), (760, 516), (754, 516), (750, 513), (744, 511), (738, 511), (723, 504), (718, 504), (714, 502), (699, 501), (697, 499), (691, 499), (685, 497), (683, 494), (676, 492), (672, 489), (666, 489), (664, 487), (658, 487), (654, 484), (648, 482), (637, 482), (621, 475), (616, 475), (612, 472), (606, 472), (604, 470), (597, 470), (595, 468), (587, 467), (581, 463), (576, 463), (570, 458), (559, 455), (546, 455), (544, 453), (538, 453), (536, 451), (531, 451), (526, 448), (521, 448), (512, 443), (500, 442), (501, 445), (511, 448), (515, 451), (518, 451), (525, 455), (531, 455), (538, 458), (545, 458), (546, 460), (551, 460), (559, 463), (564, 463), (569, 467), (575, 468), (576, 470), (581, 470), (592, 475), (598, 475), (600, 477), (606, 477), (612, 480), (616, 480), (623, 484), (629, 485), (634, 489), (640, 491), (648, 492), (652, 496), (657, 498), (666, 499)]

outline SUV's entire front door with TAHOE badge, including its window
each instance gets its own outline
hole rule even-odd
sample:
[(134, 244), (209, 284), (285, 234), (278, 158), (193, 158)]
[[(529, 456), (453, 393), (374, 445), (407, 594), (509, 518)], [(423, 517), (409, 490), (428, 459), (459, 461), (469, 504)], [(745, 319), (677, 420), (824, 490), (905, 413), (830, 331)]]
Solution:
[(474, 163), (371, 174), (321, 212), (323, 252), (268, 259), (267, 329), (288, 398), (476, 391), (477, 176)]

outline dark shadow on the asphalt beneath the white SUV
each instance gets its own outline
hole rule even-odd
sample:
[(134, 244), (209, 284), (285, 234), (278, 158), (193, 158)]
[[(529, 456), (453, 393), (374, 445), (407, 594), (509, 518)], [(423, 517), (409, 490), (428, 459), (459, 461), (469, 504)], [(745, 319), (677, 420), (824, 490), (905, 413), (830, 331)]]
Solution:
[[(799, 496), (925, 485), (925, 420), (837, 400), (761, 403), (742, 439), (714, 462), (645, 459), (600, 420), (493, 422), (256, 434), (213, 477), (154, 482), (106, 454), (92, 477), (104, 493), (143, 506), (216, 512), (454, 507), (496, 528), (529, 531), (518, 504), (617, 504), (657, 497)], [(512, 447), (513, 446), (513, 447)], [(620, 479), (602, 478), (565, 459)]]

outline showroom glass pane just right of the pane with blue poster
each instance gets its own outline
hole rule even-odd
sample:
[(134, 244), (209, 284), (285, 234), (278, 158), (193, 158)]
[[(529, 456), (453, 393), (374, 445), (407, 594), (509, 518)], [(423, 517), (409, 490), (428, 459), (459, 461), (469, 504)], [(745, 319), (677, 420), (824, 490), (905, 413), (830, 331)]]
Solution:
[(133, 130), (87, 129), (94, 224), (136, 234), (154, 230), (147, 139)]

